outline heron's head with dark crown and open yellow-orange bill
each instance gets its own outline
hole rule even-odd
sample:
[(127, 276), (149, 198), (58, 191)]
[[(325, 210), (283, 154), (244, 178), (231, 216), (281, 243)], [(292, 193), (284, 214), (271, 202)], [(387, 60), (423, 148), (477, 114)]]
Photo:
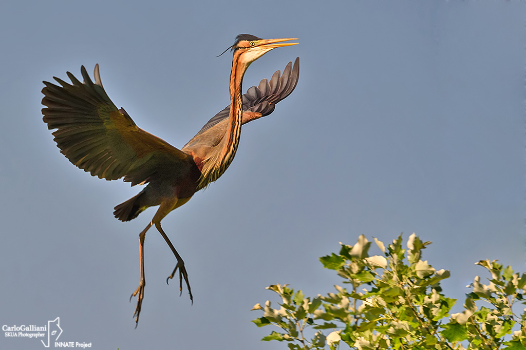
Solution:
[(230, 48), (234, 51), (234, 55), (239, 57), (242, 65), (248, 67), (259, 57), (265, 55), (270, 50), (277, 47), (291, 46), (299, 43), (284, 43), (289, 40), (298, 40), (297, 38), (282, 38), (282, 39), (261, 39), (250, 34), (239, 34), (236, 37), (234, 45)]

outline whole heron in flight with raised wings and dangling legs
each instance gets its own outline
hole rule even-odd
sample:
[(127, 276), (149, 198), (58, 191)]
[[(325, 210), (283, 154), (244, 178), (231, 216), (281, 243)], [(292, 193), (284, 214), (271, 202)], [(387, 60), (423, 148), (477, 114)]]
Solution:
[(179, 271), (179, 291), (182, 293), (184, 280), (193, 302), (185, 263), (161, 228), (161, 220), (227, 170), (236, 155), (242, 124), (271, 114), (275, 105), (294, 90), (299, 78), (299, 58), (294, 67), (289, 62), (283, 74), (278, 70), (270, 81), (263, 79), (241, 95), (248, 66), (272, 49), (298, 44), (285, 43), (290, 40), (297, 39), (238, 35), (231, 46), (230, 106), (211, 118), (181, 149), (140, 129), (123, 108), (117, 109), (103, 88), (98, 65), (95, 65), (95, 83), (84, 66), (80, 68), (82, 83), (69, 72), (72, 84), (56, 77), (60, 86), (43, 82), (42, 104), (46, 106), (42, 109), (43, 120), (49, 129), (57, 129), (53, 132), (54, 140), (70, 162), (100, 179), (124, 177), (131, 186), (147, 184), (135, 197), (115, 207), (115, 217), (129, 221), (146, 208), (159, 205), (153, 219), (139, 233), (140, 282), (130, 297), (131, 300), (137, 296), (136, 324), (146, 285), (144, 239), (153, 225), (177, 259), (166, 282)]

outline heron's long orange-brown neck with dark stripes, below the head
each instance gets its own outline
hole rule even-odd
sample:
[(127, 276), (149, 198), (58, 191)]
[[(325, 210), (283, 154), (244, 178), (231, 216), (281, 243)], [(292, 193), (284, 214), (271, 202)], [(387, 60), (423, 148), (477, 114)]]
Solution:
[(204, 161), (199, 188), (216, 181), (228, 168), (236, 155), (241, 136), (243, 100), (241, 98), (242, 80), (248, 65), (241, 62), (241, 54), (234, 53), (230, 72), (230, 114), (225, 136), (216, 146), (213, 154)]

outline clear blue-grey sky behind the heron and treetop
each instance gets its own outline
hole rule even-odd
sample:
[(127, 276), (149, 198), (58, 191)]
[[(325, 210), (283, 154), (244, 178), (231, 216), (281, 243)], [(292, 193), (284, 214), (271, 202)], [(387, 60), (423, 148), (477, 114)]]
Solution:
[[(250, 322), (265, 290), (325, 294), (340, 279), (318, 257), (358, 235), (433, 244), (459, 298), (499, 259), (524, 265), (523, 2), (7, 1), (0, 11), (0, 324), (47, 324), (95, 349), (275, 349)], [(228, 105), (236, 35), (298, 37), (252, 64), (244, 87), (300, 57), (296, 90), (242, 129), (236, 159), (163, 220), (194, 293), (166, 277), (175, 259), (146, 236), (139, 326), (135, 195), (63, 157), (42, 122), (42, 80), (96, 63), (137, 125), (182, 147)], [(373, 251), (375, 252), (375, 251)], [(483, 279), (485, 279), (483, 275)], [(44, 348), (6, 338), (0, 349)]]

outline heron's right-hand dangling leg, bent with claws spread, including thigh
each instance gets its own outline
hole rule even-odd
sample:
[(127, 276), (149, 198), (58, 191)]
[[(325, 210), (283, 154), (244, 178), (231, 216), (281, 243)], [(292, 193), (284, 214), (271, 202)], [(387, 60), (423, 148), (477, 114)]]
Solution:
[(194, 303), (194, 297), (192, 296), (192, 291), (191, 291), (191, 288), (190, 288), (190, 282), (188, 282), (188, 273), (186, 272), (185, 262), (183, 261), (183, 258), (181, 258), (179, 253), (177, 253), (177, 251), (175, 250), (174, 245), (171, 244), (170, 239), (168, 238), (166, 233), (163, 231), (163, 228), (161, 228), (161, 220), (170, 211), (172, 211), (172, 210), (180, 207), (181, 205), (185, 204), (186, 202), (188, 202), (190, 200), (190, 198), (191, 197), (189, 197), (189, 198), (182, 198), (182, 199), (172, 198), (170, 200), (167, 200), (167, 201), (161, 203), (161, 205), (159, 206), (159, 210), (157, 210), (157, 212), (155, 213), (154, 219), (152, 220), (152, 222), (155, 224), (155, 228), (157, 229), (157, 231), (159, 231), (161, 236), (163, 236), (163, 238), (165, 239), (166, 243), (168, 243), (168, 246), (170, 247), (171, 251), (175, 255), (175, 259), (177, 259), (177, 264), (175, 265), (175, 269), (171, 273), (171, 275), (169, 275), (168, 278), (166, 279), (166, 283), (168, 284), (168, 280), (173, 278), (175, 273), (176, 273), (176, 271), (177, 271), (177, 269), (179, 269), (179, 292), (180, 292), (179, 295), (183, 294), (183, 279), (184, 279), (185, 282), (186, 282), (186, 287), (188, 288), (188, 293), (190, 294), (190, 300), (191, 300), (191, 302), (193, 304)]

